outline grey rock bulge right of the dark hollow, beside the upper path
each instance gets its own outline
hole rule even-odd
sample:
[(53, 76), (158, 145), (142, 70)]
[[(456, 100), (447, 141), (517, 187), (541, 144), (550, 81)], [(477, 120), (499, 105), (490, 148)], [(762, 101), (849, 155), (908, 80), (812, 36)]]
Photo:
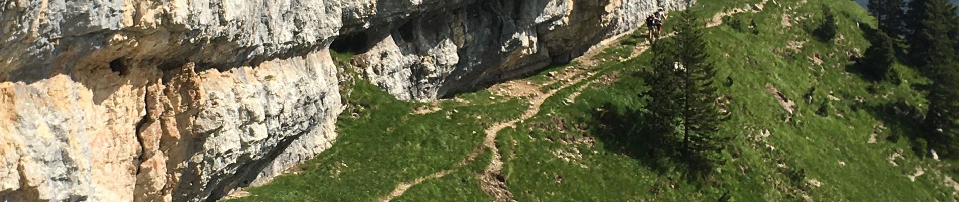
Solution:
[[(681, 0), (499, 0), (411, 15), (354, 44), (368, 78), (405, 100), (433, 100), (568, 62)], [(366, 42), (368, 41), (368, 42)]]

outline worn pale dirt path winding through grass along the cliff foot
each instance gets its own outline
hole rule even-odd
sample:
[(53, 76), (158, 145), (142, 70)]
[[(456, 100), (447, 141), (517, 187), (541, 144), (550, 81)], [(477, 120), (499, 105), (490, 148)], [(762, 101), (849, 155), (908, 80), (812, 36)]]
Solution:
[[(760, 4), (754, 5), (752, 10), (749, 10), (748, 8), (736, 8), (736, 9), (716, 13), (715, 15), (713, 15), (712, 19), (708, 20), (706, 27), (710, 28), (710, 27), (722, 25), (723, 23), (722, 17), (724, 16), (728, 16), (728, 15), (732, 15), (732, 14), (744, 12), (744, 11), (754, 11), (754, 12), (761, 11), (763, 5), (765, 5), (767, 1), (768, 0), (763, 0)], [(675, 33), (667, 34), (666, 36), (664, 36), (664, 38), (671, 37), (674, 34)], [(485, 191), (487, 194), (489, 194), (490, 196), (493, 196), (496, 201), (515, 201), (512, 199), (512, 193), (509, 192), (509, 190), (507, 190), (505, 186), (505, 180), (503, 177), (502, 155), (500, 154), (500, 149), (496, 146), (496, 143), (495, 143), (497, 134), (499, 134), (500, 130), (503, 130), (503, 128), (515, 127), (516, 123), (524, 122), (532, 118), (536, 114), (538, 114), (540, 111), (540, 106), (543, 104), (543, 101), (546, 101), (552, 98), (552, 96), (555, 95), (556, 93), (570, 86), (578, 84), (585, 79), (590, 78), (592, 74), (588, 74), (588, 73), (592, 72), (590, 71), (591, 69), (587, 69), (584, 67), (596, 66), (596, 64), (599, 61), (596, 61), (595, 56), (598, 53), (600, 53), (599, 50), (604, 50), (608, 48), (611, 44), (614, 44), (612, 42), (620, 41), (621, 39), (624, 38), (624, 36), (627, 36), (627, 35), (628, 34), (620, 34), (620, 35), (614, 36), (613, 40), (606, 40), (604, 42), (600, 42), (590, 51), (586, 52), (584, 56), (580, 56), (576, 58), (576, 61), (579, 63), (579, 65), (566, 67), (564, 71), (561, 71), (562, 74), (552, 77), (553, 80), (543, 84), (543, 86), (548, 86), (550, 84), (554, 84), (564, 80), (567, 80), (567, 82), (564, 82), (563, 85), (559, 86), (556, 89), (550, 90), (547, 93), (533, 94), (533, 97), (529, 100), (530, 102), (529, 108), (526, 109), (526, 111), (523, 113), (523, 116), (520, 116), (517, 119), (513, 119), (509, 121), (494, 123), (493, 125), (486, 128), (485, 130), (486, 136), (483, 139), (482, 146), (475, 149), (473, 152), (467, 155), (466, 158), (458, 162), (455, 168), (439, 170), (439, 171), (433, 172), (433, 174), (422, 176), (414, 180), (411, 180), (409, 182), (400, 183), (399, 185), (396, 186), (395, 189), (393, 189), (393, 191), (390, 191), (389, 194), (386, 194), (385, 196), (381, 197), (379, 201), (390, 201), (396, 197), (403, 195), (406, 191), (409, 190), (409, 188), (419, 185), (420, 183), (423, 183), (426, 180), (441, 178), (453, 172), (457, 168), (462, 168), (463, 166), (469, 165), (474, 160), (476, 160), (477, 156), (479, 156), (479, 153), (481, 153), (482, 151), (486, 149), (489, 149), (490, 151), (492, 151), (493, 158), (490, 160), (488, 166), (481, 173), (479, 173), (480, 188), (483, 191)], [(625, 59), (630, 59), (636, 56), (640, 56), (646, 50), (649, 50), (648, 41), (643, 42), (642, 44), (638, 44), (636, 46), (636, 49), (634, 49), (633, 53), (628, 58), (622, 58), (620, 60), (625, 60)], [(528, 83), (526, 80), (511, 81), (509, 83), (524, 83), (524, 82)], [(580, 86), (579, 88), (576, 88), (575, 89), (576, 92), (574, 92), (573, 95), (570, 96), (570, 98), (575, 99), (575, 97), (578, 96), (579, 93), (588, 86), (589, 86), (589, 83), (584, 84)], [(497, 87), (498, 86), (494, 86), (493, 88), (497, 88)], [(500, 87), (503, 89), (510, 89), (508, 87), (502, 87), (502, 86)]]

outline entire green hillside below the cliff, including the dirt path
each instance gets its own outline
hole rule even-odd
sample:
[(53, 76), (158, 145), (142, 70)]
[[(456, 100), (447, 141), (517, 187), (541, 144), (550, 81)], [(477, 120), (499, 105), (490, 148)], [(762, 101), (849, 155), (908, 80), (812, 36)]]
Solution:
[[(900, 49), (893, 45), (897, 36), (882, 36), (887, 30), (877, 29), (876, 18), (853, 1), (699, 4), (688, 12), (690, 18), (695, 15), (706, 19), (697, 23), (717, 26), (694, 31), (691, 24), (673, 26), (686, 25), (678, 20), (689, 19), (674, 12), (664, 33), (678, 34), (661, 45), (701, 54), (668, 54), (676, 51), (658, 46), (646, 52), (650, 47), (643, 36), (631, 35), (602, 52), (528, 79), (426, 103), (397, 101), (358, 79), (352, 93), (344, 96), (350, 108), (339, 118), (340, 136), (332, 148), (296, 174), (247, 189), (247, 197), (235, 200), (957, 199), (959, 183), (951, 176), (959, 169), (947, 158), (954, 155), (943, 155), (949, 145), (930, 144), (952, 139), (927, 140), (936, 134), (927, 129), (930, 124), (944, 128), (933, 130), (940, 137), (959, 131), (949, 127), (955, 122), (948, 122), (956, 120), (950, 110), (959, 101), (954, 95), (959, 88), (954, 54), (936, 57), (951, 60), (930, 59), (923, 65), (865, 59), (905, 56), (904, 51), (890, 50)], [(946, 10), (930, 8), (936, 9), (929, 16), (946, 16)], [(716, 14), (734, 10), (726, 18)], [(750, 22), (750, 29), (720, 25), (733, 18)], [(924, 32), (929, 34), (903, 37), (949, 38), (947, 19), (926, 18)], [(825, 28), (833, 29), (825, 32), (830, 37), (821, 37), (824, 26), (832, 27)], [(930, 44), (956, 47), (943, 40)], [(709, 125), (685, 128), (704, 129), (705, 137), (731, 137), (707, 146), (717, 148), (706, 150), (724, 163), (711, 164), (712, 174), (705, 177), (686, 171), (690, 164), (683, 160), (689, 155), (670, 153), (684, 150), (670, 146), (682, 145), (666, 144), (671, 142), (668, 137), (677, 137), (668, 136), (674, 133), (667, 130), (684, 128), (670, 122), (685, 115), (676, 110), (682, 107), (664, 101), (683, 101), (677, 92), (684, 91), (676, 87), (684, 86), (684, 74), (664, 76), (675, 71), (675, 61), (688, 73), (703, 73), (686, 75), (713, 80), (690, 82), (712, 87), (688, 92), (701, 93), (695, 96), (698, 105), (722, 112), (699, 108), (701, 114), (711, 114), (704, 119), (709, 122), (703, 122)], [(888, 75), (863, 71), (874, 69)], [(901, 81), (887, 79), (891, 75)], [(935, 110), (945, 111), (940, 117), (927, 115)], [(725, 122), (713, 122), (726, 114)], [(928, 121), (930, 117), (938, 121)], [(484, 131), (503, 123), (511, 125), (494, 130), (497, 149), (482, 146)], [(502, 168), (493, 180), (503, 184), (487, 187), (497, 185), (483, 177), (497, 164)]]

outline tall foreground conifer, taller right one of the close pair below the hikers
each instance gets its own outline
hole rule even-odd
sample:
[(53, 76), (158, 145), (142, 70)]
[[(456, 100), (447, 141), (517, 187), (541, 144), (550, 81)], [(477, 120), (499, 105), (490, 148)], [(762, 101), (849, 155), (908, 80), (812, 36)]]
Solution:
[(718, 132), (719, 123), (727, 115), (715, 104), (715, 69), (708, 60), (706, 41), (698, 24), (690, 10), (683, 11), (677, 24), (676, 59), (682, 68), (677, 70), (680, 98), (676, 101), (680, 104), (683, 157), (694, 170), (708, 171), (723, 162), (721, 152), (731, 139)]

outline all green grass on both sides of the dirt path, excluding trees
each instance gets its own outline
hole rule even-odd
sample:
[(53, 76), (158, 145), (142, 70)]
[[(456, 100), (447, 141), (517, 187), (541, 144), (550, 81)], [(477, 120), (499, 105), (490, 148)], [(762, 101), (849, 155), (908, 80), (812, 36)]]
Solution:
[[(758, 0), (700, 1), (699, 9), (704, 17), (712, 16), (722, 8), (745, 2)], [(727, 76), (735, 80), (732, 86), (721, 87), (720, 92), (732, 98), (729, 110), (734, 115), (722, 132), (735, 134), (737, 139), (727, 154), (732, 160), (720, 168), (712, 182), (686, 181), (677, 171), (680, 166), (644, 152), (648, 145), (642, 140), (650, 134), (643, 133), (642, 116), (638, 115), (648, 100), (639, 95), (648, 88), (642, 78), (649, 56), (614, 62), (629, 55), (632, 47), (626, 43), (600, 55), (610, 62), (601, 63), (600, 72), (593, 78), (615, 75), (615, 82), (592, 84), (573, 103), (564, 100), (584, 83), (567, 88), (547, 100), (536, 117), (501, 131), (497, 145), (503, 152), (503, 172), (514, 198), (700, 201), (714, 200), (729, 191), (734, 201), (803, 197), (817, 201), (948, 200), (951, 191), (943, 186), (934, 168), (939, 163), (919, 159), (909, 147), (914, 121), (883, 110), (895, 101), (921, 106), (921, 94), (910, 89), (908, 82), (873, 83), (846, 71), (846, 52), (868, 47), (855, 22), (872, 19), (852, 1), (780, 3), (784, 5), (769, 3), (759, 13), (737, 14), (745, 22), (755, 19), (760, 34), (741, 33), (728, 25), (706, 30), (719, 70), (718, 81)], [(843, 35), (838, 45), (808, 34), (816, 25), (822, 3), (838, 17)], [(794, 10), (786, 11), (788, 8)], [(793, 12), (813, 16), (785, 28), (781, 24), (783, 13)], [(788, 41), (808, 42), (800, 51), (790, 51), (786, 48)], [(824, 61), (822, 65), (810, 59), (817, 54)], [(907, 81), (924, 80), (908, 68), (898, 70)], [(531, 80), (546, 80), (545, 75)], [(784, 122), (786, 112), (765, 91), (767, 83), (799, 102), (798, 115), (792, 122)], [(812, 86), (817, 89), (814, 101), (806, 103), (802, 96)], [(871, 93), (867, 88), (876, 90)], [(439, 112), (412, 115), (412, 109), (422, 103), (395, 101), (363, 82), (354, 89), (348, 98), (352, 108), (340, 117), (335, 146), (304, 164), (302, 173), (249, 189), (254, 196), (238, 201), (373, 200), (399, 182), (452, 168), (479, 146), (486, 125), (516, 117), (526, 108), (525, 101), (490, 101), (489, 93), (480, 91), (461, 96), (470, 103), (442, 101), (443, 110)], [(839, 101), (830, 101), (829, 116), (816, 115), (829, 92)], [(445, 116), (454, 109), (458, 113), (447, 120)], [(354, 118), (354, 112), (360, 116)], [(889, 129), (877, 131), (878, 124)], [(772, 135), (754, 138), (764, 129)], [(874, 132), (878, 134), (877, 143), (867, 144)], [(886, 141), (890, 135), (904, 138)], [(898, 167), (886, 161), (896, 151), (904, 156), (897, 160)], [(557, 152), (574, 157), (568, 162), (558, 158)], [(485, 167), (488, 156), (480, 155), (467, 167), (412, 187), (396, 200), (488, 201), (475, 174)], [(904, 175), (916, 167), (926, 169), (926, 174), (911, 182)], [(810, 181), (820, 182), (820, 186)]]

